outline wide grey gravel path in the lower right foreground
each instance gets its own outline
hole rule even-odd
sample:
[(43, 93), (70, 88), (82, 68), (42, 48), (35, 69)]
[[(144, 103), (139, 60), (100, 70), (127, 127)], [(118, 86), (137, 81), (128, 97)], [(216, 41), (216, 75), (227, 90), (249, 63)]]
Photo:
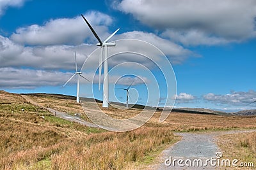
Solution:
[[(236, 134), (241, 132), (253, 132), (256, 131), (254, 129), (252, 130), (241, 130), (241, 131), (216, 131), (216, 132), (207, 132), (207, 133), (193, 133), (193, 132), (186, 132), (186, 133), (175, 133), (176, 135), (182, 136), (182, 140), (180, 140), (175, 145), (171, 146), (167, 150), (164, 150), (163, 156), (161, 157), (161, 164), (155, 165), (151, 167), (150, 169), (215, 169), (215, 167), (212, 167), (210, 163), (208, 163), (208, 166), (185, 166), (185, 161), (191, 160), (191, 164), (193, 164), (193, 160), (202, 160), (202, 163), (205, 164), (205, 161), (207, 159), (216, 159), (216, 153), (220, 152), (220, 149), (214, 142), (215, 138), (217, 136), (223, 135), (223, 134)], [(184, 166), (180, 167), (178, 166), (177, 162), (175, 162), (175, 165), (171, 164), (170, 166), (166, 166), (164, 164), (165, 160), (170, 160), (170, 157), (173, 159), (182, 159), (184, 162)], [(166, 162), (167, 164), (170, 164), (169, 161)], [(197, 162), (196, 162), (197, 164)]]

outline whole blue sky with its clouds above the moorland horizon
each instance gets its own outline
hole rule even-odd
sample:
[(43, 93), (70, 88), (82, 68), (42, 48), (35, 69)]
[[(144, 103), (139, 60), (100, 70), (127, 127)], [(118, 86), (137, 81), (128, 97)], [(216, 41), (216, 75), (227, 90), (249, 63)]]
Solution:
[[(75, 96), (76, 80), (61, 88), (75, 71), (74, 51), (81, 68), (97, 49), (97, 39), (81, 18), (83, 14), (103, 40), (120, 28), (112, 40), (140, 39), (166, 55), (177, 80), (175, 107), (255, 109), (255, 103), (249, 104), (256, 101), (254, 6), (250, 0), (4, 0), (0, 2), (0, 89)], [(109, 60), (109, 65), (124, 60), (148, 66), (159, 85), (164, 85), (161, 73), (147, 60), (121, 56), (115, 62)], [(125, 71), (131, 69), (125, 67)], [(83, 71), (92, 76), (86, 68)], [(115, 76), (111, 81), (115, 82)], [(127, 87), (134, 78), (126, 76), (117, 86)], [(147, 77), (145, 81), (152, 82)], [(97, 80), (93, 88), (97, 89)], [(138, 103), (154, 105), (147, 103), (145, 84), (136, 79), (134, 88)], [(102, 90), (95, 89), (95, 97), (102, 99)], [(160, 97), (166, 97), (166, 90), (160, 91)], [(86, 92), (83, 96), (92, 97)], [(131, 96), (136, 94), (131, 91)], [(124, 102), (125, 92), (116, 90), (116, 97)]]

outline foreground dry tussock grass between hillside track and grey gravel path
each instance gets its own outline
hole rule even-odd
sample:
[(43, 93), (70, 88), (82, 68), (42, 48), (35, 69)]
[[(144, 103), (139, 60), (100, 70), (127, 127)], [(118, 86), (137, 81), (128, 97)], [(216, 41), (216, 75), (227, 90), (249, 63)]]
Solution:
[(175, 141), (170, 129), (161, 127), (118, 133), (84, 127), (16, 94), (0, 92), (0, 103), (0, 169), (134, 169)]

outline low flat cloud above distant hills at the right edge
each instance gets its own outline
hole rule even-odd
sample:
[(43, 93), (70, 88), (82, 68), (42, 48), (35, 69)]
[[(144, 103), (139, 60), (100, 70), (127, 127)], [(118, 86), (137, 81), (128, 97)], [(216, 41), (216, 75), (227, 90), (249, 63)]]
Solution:
[(206, 94), (204, 99), (207, 101), (212, 101), (213, 103), (223, 103), (223, 104), (244, 104), (252, 103), (256, 101), (256, 92), (254, 90), (249, 90), (248, 92), (230, 92), (230, 94)]

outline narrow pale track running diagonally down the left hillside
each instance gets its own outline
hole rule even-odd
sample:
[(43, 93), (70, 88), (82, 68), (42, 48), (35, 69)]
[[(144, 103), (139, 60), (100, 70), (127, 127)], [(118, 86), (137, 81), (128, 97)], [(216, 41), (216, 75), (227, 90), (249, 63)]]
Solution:
[(90, 122), (86, 122), (86, 121), (82, 120), (81, 118), (73, 117), (72, 115), (68, 115), (67, 113), (63, 113), (61, 111), (53, 110), (51, 108), (46, 108), (45, 106), (42, 106), (40, 103), (36, 103), (35, 101), (33, 101), (29, 96), (26, 96), (26, 95), (21, 95), (21, 96), (24, 99), (26, 99), (26, 101), (30, 102), (31, 104), (34, 104), (35, 106), (39, 106), (41, 108), (44, 108), (45, 110), (50, 111), (52, 113), (52, 115), (55, 115), (56, 117), (63, 118), (63, 119), (68, 120), (70, 122), (77, 122), (79, 124), (86, 125), (88, 127), (98, 127), (97, 125), (92, 124)]

